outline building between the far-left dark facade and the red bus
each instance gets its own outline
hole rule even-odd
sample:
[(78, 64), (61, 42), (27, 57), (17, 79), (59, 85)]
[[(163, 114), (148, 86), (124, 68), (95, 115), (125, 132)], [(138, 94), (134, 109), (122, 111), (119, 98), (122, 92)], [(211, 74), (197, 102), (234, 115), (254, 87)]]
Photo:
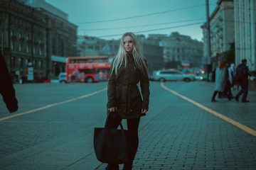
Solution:
[[(58, 76), (65, 72), (65, 57), (77, 56), (76, 41), (77, 29), (73, 23), (68, 21), (68, 14), (48, 4), (45, 0), (19, 0), (28, 6), (33, 6), (45, 14), (48, 19), (48, 50), (50, 53), (50, 70), (53, 75)], [(55, 60), (60, 59), (60, 60)]]

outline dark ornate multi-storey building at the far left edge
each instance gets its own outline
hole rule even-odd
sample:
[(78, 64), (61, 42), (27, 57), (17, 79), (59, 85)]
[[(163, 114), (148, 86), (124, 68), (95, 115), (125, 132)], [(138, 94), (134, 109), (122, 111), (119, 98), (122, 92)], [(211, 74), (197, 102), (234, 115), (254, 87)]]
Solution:
[(43, 13), (19, 1), (1, 0), (0, 16), (0, 46), (11, 74), (26, 74), (28, 62), (33, 63), (35, 76), (46, 74), (50, 59)]

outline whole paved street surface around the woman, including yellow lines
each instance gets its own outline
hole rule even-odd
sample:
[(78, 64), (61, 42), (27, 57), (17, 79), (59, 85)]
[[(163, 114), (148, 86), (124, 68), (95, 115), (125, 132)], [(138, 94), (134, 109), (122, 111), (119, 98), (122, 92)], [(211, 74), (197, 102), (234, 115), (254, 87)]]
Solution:
[[(93, 128), (105, 125), (106, 82), (14, 87), (18, 111), (0, 101), (1, 170), (105, 168), (92, 141)], [(256, 169), (256, 92), (250, 103), (212, 103), (213, 89), (206, 81), (151, 81), (134, 169)]]

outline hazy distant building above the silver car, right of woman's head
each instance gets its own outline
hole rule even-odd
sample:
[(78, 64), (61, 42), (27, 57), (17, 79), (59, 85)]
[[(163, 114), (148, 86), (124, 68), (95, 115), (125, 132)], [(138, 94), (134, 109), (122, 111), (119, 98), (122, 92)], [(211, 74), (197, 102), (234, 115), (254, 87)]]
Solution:
[(164, 49), (164, 62), (168, 68), (181, 68), (184, 64), (201, 67), (203, 42), (192, 40), (188, 35), (149, 35), (149, 39), (159, 40)]

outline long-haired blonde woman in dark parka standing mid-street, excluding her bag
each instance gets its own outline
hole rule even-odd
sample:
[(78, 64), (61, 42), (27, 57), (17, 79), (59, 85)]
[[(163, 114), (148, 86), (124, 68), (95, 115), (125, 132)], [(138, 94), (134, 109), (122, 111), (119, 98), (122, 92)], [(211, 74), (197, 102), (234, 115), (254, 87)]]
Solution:
[[(124, 170), (129, 170), (139, 145), (139, 120), (149, 109), (149, 72), (134, 33), (122, 35), (112, 62), (107, 97), (107, 128), (117, 128), (122, 119), (127, 119), (129, 161), (124, 164)], [(119, 169), (119, 165), (108, 164), (106, 169)]]

